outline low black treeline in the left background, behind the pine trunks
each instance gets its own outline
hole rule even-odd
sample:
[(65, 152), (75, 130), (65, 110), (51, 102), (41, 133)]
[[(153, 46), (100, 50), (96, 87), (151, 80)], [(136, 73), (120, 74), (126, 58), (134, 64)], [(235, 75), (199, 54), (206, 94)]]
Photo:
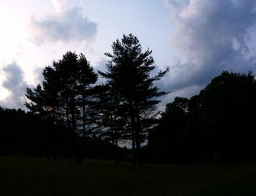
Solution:
[[(47, 157), (48, 160), (74, 157), (72, 133), (31, 112), (0, 107), (0, 125), (0, 155)], [(109, 141), (91, 137), (84, 147), (89, 149), (86, 158), (115, 160)], [(120, 160), (129, 161), (129, 150), (118, 149)]]

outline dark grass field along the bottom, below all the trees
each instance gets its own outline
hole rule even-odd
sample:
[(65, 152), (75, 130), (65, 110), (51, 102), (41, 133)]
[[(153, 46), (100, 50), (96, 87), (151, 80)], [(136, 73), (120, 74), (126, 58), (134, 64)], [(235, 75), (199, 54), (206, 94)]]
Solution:
[(256, 195), (256, 164), (144, 165), (0, 157), (0, 195)]

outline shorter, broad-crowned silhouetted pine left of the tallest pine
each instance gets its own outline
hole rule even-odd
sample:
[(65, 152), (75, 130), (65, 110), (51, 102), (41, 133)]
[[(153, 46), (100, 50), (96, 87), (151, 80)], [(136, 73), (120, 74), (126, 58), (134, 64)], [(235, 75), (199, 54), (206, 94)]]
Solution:
[(72, 131), (75, 157), (81, 162), (80, 137), (86, 137), (86, 125), (94, 123), (91, 88), (97, 81), (97, 74), (86, 57), (81, 54), (78, 58), (75, 52), (67, 52), (61, 60), (53, 61), (53, 66), (46, 67), (42, 74), (42, 86), (37, 85), (34, 90), (27, 88), (26, 97), (30, 102), (26, 102), (26, 106), (34, 114), (66, 125)]

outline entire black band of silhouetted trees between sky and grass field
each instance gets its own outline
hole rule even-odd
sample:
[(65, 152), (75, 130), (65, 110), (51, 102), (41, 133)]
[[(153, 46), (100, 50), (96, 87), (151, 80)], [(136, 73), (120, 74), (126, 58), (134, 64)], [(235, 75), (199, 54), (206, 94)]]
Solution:
[[(0, 155), (104, 159), (167, 164), (253, 162), (256, 82), (252, 72), (223, 71), (191, 98), (159, 111), (151, 50), (124, 35), (112, 45), (106, 71), (67, 52), (27, 88), (26, 108), (0, 107)], [(155, 74), (154, 74), (155, 73)], [(99, 82), (104, 79), (104, 83)]]

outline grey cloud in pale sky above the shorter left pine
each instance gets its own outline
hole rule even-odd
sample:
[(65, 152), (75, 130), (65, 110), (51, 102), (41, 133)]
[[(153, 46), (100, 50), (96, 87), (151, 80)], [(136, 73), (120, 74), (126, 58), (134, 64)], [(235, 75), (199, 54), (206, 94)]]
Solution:
[(29, 39), (34, 44), (45, 42), (92, 42), (97, 34), (97, 24), (83, 16), (82, 7), (64, 9), (64, 1), (53, 1), (57, 15), (38, 20), (31, 18)]

